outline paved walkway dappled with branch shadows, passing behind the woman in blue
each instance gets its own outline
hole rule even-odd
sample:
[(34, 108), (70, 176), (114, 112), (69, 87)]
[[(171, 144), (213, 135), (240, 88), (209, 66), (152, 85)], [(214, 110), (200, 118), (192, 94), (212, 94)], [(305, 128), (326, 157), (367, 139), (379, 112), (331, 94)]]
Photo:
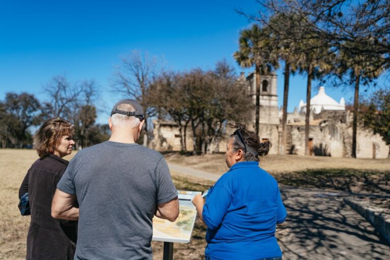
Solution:
[[(217, 174), (169, 164), (184, 175), (215, 181)], [(343, 202), (347, 192), (280, 185), (288, 216), (278, 227), (283, 259), (390, 259), (389, 244)]]

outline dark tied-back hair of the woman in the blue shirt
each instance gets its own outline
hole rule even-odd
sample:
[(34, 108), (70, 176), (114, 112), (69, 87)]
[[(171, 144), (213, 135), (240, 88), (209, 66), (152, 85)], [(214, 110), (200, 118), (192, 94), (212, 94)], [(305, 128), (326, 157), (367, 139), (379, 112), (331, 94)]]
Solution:
[[(238, 131), (241, 134), (241, 137), (244, 139), (245, 146), (249, 147), (254, 152), (258, 153), (257, 156), (249, 152), (245, 147), (243, 147), (235, 138), (235, 135), (231, 135), (230, 137), (233, 138), (233, 151), (236, 152), (239, 149), (244, 151), (244, 160), (245, 161), (258, 161), (258, 156), (264, 156), (267, 155), (270, 151), (272, 144), (270, 141), (266, 142), (260, 142), (260, 139), (256, 135), (255, 132), (249, 131), (245, 124), (236, 123), (232, 124), (229, 123), (230, 127), (238, 129)], [(246, 150), (246, 151), (245, 151)]]

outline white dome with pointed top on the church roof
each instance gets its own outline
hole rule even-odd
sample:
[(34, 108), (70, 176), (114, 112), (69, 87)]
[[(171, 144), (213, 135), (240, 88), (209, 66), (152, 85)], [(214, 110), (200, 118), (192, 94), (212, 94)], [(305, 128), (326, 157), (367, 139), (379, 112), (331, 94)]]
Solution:
[[(305, 106), (306, 104), (304, 104), (303, 101), (299, 103), (301, 111), (302, 109), (304, 110)], [(310, 109), (316, 114), (320, 113), (322, 110), (345, 110), (345, 101), (344, 98), (341, 98), (340, 103), (338, 103), (325, 93), (324, 87), (320, 87), (318, 94), (310, 99)]]

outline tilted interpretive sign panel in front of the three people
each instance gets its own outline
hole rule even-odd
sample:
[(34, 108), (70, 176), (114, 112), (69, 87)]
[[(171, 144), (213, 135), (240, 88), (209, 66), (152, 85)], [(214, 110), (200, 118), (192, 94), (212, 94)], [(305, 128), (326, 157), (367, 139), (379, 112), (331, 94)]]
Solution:
[(154, 241), (189, 243), (197, 218), (197, 210), (191, 199), (202, 192), (179, 190), (180, 213), (175, 222), (158, 217), (153, 218)]

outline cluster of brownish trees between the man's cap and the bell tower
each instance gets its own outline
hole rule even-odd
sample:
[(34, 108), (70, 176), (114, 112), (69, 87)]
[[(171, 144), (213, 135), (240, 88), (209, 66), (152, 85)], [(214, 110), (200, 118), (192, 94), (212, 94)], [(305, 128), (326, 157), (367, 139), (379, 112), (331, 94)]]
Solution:
[[(148, 53), (129, 53), (114, 74), (112, 88), (139, 101), (146, 118), (174, 121), (183, 153), (187, 152), (188, 133), (192, 134), (193, 153), (218, 152), (226, 121), (246, 121), (251, 116), (245, 80), (238, 80), (225, 60), (214, 69), (182, 72), (161, 69), (158, 63)], [(144, 124), (147, 140), (153, 138), (150, 124), (150, 120)]]

